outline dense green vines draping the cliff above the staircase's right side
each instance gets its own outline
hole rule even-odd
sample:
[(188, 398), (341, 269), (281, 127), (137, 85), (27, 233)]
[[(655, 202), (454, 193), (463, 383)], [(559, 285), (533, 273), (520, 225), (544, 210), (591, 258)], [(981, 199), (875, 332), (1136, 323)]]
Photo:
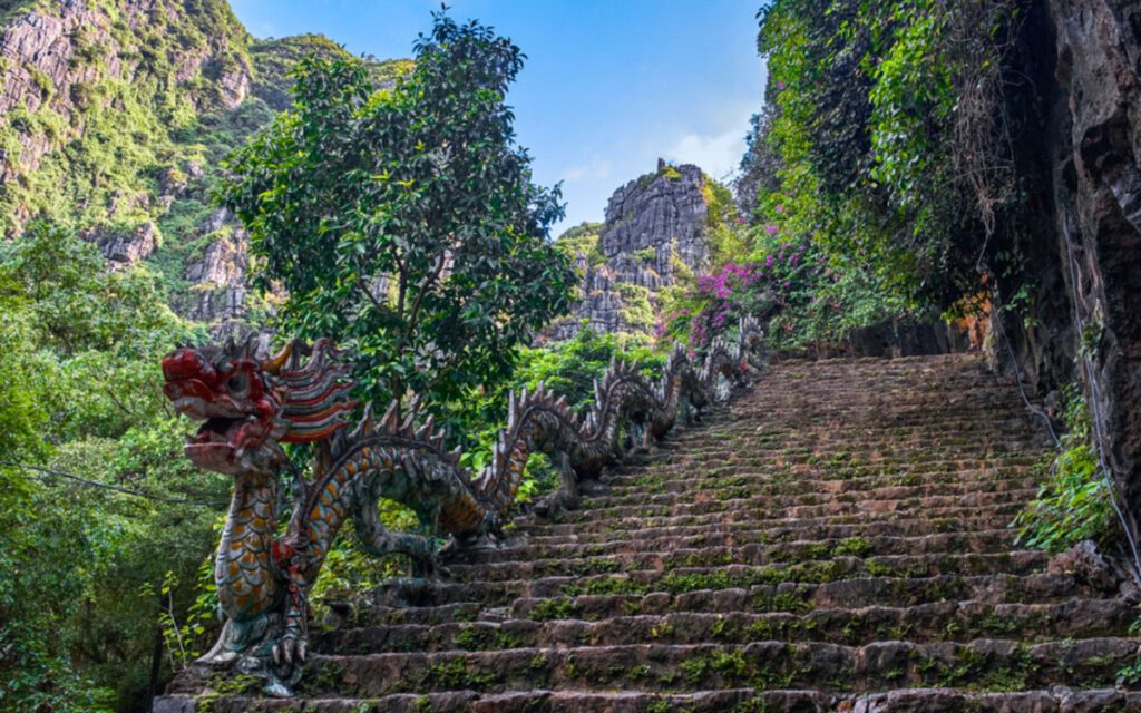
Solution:
[(761, 18), (768, 106), (744, 168), (762, 221), (914, 303), (978, 291), (1010, 197), (1001, 107), (979, 92), (996, 91), (1013, 7), (778, 0)]

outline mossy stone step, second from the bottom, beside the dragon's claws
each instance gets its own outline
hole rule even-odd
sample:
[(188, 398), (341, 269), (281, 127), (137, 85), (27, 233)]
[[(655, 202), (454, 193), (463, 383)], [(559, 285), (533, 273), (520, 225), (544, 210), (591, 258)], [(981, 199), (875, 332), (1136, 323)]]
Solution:
[(877, 641), (858, 647), (824, 642), (754, 641), (515, 648), (495, 651), (313, 655), (299, 687), (305, 696), (334, 692), (372, 697), (472, 688), (504, 692), (529, 688), (693, 690), (812, 687), (872, 692), (890, 688), (971, 686), (1019, 690), (1067, 681), (1114, 684), (1138, 656), (1132, 639), (1020, 643)]

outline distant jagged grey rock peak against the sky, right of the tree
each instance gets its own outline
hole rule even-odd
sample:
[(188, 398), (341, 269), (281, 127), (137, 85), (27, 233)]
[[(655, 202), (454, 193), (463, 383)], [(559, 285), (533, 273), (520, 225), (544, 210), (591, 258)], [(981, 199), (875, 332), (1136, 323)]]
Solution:
[(543, 337), (569, 339), (583, 324), (596, 332), (646, 332), (655, 293), (677, 283), (679, 269), (701, 272), (709, 260), (705, 175), (696, 165), (658, 164), (610, 196), (599, 245), (600, 266), (580, 256), (582, 299), (575, 313)]

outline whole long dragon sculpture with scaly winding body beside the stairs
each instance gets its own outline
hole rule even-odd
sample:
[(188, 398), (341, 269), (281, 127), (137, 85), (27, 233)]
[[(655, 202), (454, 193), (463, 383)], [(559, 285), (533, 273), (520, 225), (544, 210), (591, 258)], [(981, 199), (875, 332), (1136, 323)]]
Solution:
[[(451, 536), (446, 548), (494, 540), (528, 455), (541, 451), (561, 483), (536, 509), (573, 508), (580, 481), (727, 396), (759, 365), (762, 343), (758, 323), (743, 319), (734, 348), (717, 340), (701, 364), (675, 349), (656, 383), (614, 360), (584, 418), (542, 387), (512, 395), (494, 456), (477, 477), (460, 465), (459, 451), (444, 449), (430, 418), (418, 426), (415, 399), (404, 418), (396, 403), (380, 419), (366, 406), (350, 428), (358, 407), (351, 364), (326, 339), (294, 341), (267, 358), (256, 356), (252, 341), (179, 347), (162, 360), (163, 391), (177, 413), (202, 421), (184, 451), (195, 465), (235, 483), (215, 562), (225, 624), (196, 663), (234, 666), (264, 679), (267, 692), (291, 695), (306, 656), (307, 594), (347, 518), (370, 552), (406, 553), (420, 573), (430, 572), (439, 554), (434, 540), (386, 529), (380, 499), (410, 507), (430, 532)], [(282, 448), (289, 443), (314, 444), (308, 477)], [(280, 528), (286, 475), (296, 502)]]

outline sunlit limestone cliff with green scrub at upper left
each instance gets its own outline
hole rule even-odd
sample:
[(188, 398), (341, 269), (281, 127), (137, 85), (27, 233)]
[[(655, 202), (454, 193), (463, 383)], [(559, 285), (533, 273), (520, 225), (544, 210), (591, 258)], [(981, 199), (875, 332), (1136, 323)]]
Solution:
[[(254, 40), (225, 0), (0, 5), (0, 234), (70, 226), (112, 269), (156, 269), (184, 316), (233, 329), (257, 311), (246, 236), (210, 189), (313, 54), (347, 56), (319, 35)], [(373, 79), (407, 66), (374, 63)]]

